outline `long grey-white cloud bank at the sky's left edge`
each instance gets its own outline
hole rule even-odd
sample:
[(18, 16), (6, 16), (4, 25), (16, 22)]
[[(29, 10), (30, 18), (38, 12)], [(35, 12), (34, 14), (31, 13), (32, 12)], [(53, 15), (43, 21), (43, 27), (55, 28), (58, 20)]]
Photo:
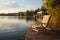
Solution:
[(17, 7), (19, 7), (17, 2), (0, 2), (0, 9), (17, 8)]

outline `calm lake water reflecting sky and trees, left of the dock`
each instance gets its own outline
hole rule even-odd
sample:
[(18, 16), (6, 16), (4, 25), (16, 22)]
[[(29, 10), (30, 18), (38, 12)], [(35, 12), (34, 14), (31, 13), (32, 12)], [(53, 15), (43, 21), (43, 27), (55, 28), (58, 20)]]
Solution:
[(34, 22), (33, 18), (0, 16), (0, 40), (24, 40), (26, 30)]

